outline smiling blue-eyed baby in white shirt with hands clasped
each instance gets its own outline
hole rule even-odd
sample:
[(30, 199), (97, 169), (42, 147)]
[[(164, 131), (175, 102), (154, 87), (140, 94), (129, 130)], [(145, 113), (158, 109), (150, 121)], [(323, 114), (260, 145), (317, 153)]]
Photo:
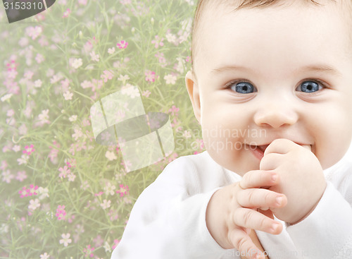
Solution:
[(352, 258), (351, 28), (351, 0), (199, 1), (206, 151), (144, 190), (112, 258)]

